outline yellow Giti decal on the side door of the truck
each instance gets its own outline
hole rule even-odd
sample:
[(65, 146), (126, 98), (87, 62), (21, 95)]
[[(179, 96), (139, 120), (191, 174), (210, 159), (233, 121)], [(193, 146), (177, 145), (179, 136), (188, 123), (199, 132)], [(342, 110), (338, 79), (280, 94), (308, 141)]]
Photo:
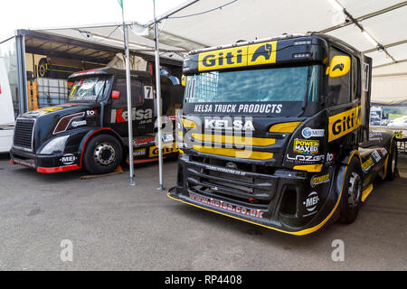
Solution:
[(362, 125), (362, 107), (354, 107), (329, 117), (328, 142), (347, 135)]

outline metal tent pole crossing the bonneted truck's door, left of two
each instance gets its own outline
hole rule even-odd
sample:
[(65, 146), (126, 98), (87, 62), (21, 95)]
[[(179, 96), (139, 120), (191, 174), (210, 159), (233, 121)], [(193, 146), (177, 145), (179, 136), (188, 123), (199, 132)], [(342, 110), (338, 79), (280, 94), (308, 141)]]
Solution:
[(124, 21), (124, 12), (122, 10), (123, 16), (123, 36), (125, 42), (126, 51), (126, 85), (127, 85), (127, 95), (128, 95), (128, 165), (130, 167), (130, 185), (134, 186), (134, 160), (133, 160), (133, 114), (131, 110), (131, 79), (130, 79), (130, 50), (128, 48), (128, 26)]

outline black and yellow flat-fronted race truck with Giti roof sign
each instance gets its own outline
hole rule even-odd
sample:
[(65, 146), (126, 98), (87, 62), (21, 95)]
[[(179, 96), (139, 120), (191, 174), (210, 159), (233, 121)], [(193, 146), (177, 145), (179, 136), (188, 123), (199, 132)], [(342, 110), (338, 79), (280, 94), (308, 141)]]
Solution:
[(293, 235), (353, 222), (397, 165), (393, 135), (369, 132), (371, 67), (316, 33), (190, 52), (168, 196)]

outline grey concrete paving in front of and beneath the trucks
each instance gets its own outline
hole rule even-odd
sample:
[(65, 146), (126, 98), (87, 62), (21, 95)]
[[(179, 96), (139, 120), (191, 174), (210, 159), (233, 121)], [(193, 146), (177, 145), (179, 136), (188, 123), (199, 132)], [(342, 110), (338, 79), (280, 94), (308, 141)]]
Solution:
[[(165, 186), (176, 162), (165, 162)], [(80, 180), (41, 174), (0, 156), (1, 270), (406, 270), (407, 157), (378, 182), (352, 225), (294, 237), (187, 206), (156, 191), (156, 163)], [(72, 261), (63, 262), (62, 240)], [(345, 260), (334, 262), (332, 242)], [(65, 251), (63, 251), (65, 252)]]

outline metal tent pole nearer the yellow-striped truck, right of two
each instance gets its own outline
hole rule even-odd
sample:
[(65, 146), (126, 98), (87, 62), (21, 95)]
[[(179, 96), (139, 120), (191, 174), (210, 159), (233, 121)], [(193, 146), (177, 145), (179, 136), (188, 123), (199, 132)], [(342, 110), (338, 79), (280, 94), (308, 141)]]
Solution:
[(157, 190), (164, 191), (163, 185), (163, 135), (162, 135), (162, 119), (161, 119), (161, 83), (160, 83), (160, 54), (158, 48), (158, 28), (156, 22), (156, 1), (153, 0), (154, 7), (154, 42), (155, 42), (155, 55), (156, 55), (156, 116), (158, 134), (158, 173), (160, 186)]

